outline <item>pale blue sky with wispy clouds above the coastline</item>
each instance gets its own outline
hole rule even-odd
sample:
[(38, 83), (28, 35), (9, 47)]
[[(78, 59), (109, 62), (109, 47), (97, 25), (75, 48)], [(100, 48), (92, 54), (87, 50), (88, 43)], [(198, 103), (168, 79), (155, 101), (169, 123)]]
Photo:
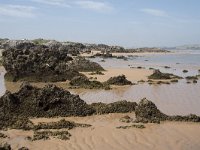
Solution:
[(200, 0), (0, 0), (0, 38), (200, 44)]

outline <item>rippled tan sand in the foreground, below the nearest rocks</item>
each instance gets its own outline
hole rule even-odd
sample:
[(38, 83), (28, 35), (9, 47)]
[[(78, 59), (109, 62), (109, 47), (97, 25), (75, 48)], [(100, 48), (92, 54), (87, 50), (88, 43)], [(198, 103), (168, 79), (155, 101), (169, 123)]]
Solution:
[[(146, 124), (145, 129), (116, 129), (127, 125), (119, 122), (119, 118), (127, 114), (108, 114), (90, 117), (69, 117), (67, 120), (91, 124), (89, 128), (75, 128), (69, 132), (72, 137), (68, 141), (51, 139), (31, 142), (25, 137), (32, 131), (4, 131), (10, 139), (8, 143), (14, 149), (26, 146), (31, 150), (199, 150), (200, 124), (165, 122)], [(133, 113), (128, 114), (134, 117)], [(35, 123), (58, 121), (56, 119), (33, 119)], [(129, 125), (129, 124), (128, 124)]]

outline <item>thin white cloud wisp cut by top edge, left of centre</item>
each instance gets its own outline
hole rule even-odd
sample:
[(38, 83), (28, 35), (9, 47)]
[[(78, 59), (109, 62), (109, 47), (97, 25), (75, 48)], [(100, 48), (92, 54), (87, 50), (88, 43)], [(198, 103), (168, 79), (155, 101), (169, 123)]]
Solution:
[(53, 6), (59, 6), (59, 7), (70, 7), (69, 4), (66, 3), (65, 0), (32, 0), (33, 2), (47, 4), (47, 5), (53, 5)]

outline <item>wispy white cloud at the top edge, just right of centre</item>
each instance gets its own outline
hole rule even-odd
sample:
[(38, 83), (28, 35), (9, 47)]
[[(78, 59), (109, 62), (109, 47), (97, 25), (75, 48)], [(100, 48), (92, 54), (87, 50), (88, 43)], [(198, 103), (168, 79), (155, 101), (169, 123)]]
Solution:
[(76, 1), (75, 4), (77, 4), (81, 8), (90, 9), (98, 12), (109, 12), (113, 10), (113, 8), (105, 2), (82, 0), (82, 1)]

